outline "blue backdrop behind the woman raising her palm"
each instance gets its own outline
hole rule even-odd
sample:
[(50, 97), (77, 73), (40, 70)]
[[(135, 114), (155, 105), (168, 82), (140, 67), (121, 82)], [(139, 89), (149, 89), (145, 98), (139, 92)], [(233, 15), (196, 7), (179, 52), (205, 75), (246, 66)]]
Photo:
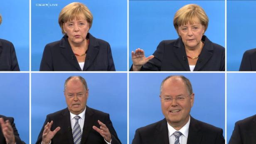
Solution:
[(201, 6), (209, 17), (205, 35), (214, 43), (225, 46), (224, 0), (130, 0), (129, 1), (129, 66), (131, 51), (141, 48), (150, 56), (162, 40), (177, 39), (173, 17), (187, 4)]

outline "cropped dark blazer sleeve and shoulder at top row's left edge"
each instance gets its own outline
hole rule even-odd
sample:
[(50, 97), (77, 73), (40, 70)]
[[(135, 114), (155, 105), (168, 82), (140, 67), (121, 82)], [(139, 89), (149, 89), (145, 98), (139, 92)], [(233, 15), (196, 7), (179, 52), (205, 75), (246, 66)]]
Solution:
[(0, 39), (0, 71), (20, 71), (13, 44)]

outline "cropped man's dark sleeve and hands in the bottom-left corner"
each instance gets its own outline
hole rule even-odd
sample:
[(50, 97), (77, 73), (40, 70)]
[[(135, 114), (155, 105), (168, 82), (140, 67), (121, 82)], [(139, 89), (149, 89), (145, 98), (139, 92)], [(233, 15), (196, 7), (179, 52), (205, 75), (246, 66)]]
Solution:
[(0, 115), (0, 144), (25, 144), (19, 137), (13, 117)]

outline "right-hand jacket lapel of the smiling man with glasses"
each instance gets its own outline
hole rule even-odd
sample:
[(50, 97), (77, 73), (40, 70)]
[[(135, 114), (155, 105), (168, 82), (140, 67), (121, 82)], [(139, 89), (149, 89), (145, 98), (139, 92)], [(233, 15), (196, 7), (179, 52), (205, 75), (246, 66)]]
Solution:
[(187, 144), (200, 144), (202, 132), (200, 126), (193, 117), (190, 116), (190, 127), (188, 129)]

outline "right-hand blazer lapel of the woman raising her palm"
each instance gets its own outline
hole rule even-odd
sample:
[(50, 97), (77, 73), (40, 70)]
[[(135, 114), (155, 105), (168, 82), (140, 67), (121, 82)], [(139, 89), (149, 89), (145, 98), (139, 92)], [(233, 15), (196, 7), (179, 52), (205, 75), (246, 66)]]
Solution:
[(214, 51), (212, 41), (207, 39), (206, 36), (202, 37), (202, 41), (204, 41), (204, 47), (194, 67), (194, 71), (199, 71), (209, 61)]

